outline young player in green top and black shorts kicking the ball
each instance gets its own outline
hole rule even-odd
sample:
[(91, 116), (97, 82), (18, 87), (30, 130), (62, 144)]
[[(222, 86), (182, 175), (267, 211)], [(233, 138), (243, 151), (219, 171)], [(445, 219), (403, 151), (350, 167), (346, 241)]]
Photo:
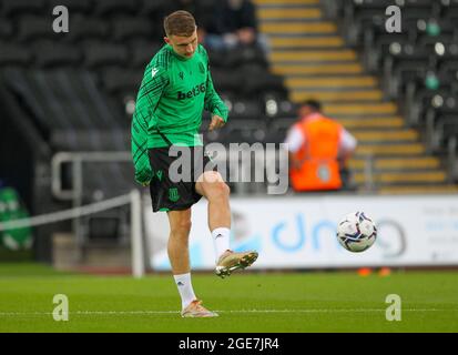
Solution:
[[(207, 53), (197, 43), (195, 20), (186, 11), (176, 11), (165, 18), (164, 30), (166, 44), (146, 67), (132, 119), (135, 180), (150, 185), (153, 211), (167, 213), (167, 252), (182, 300), (182, 316), (213, 317), (217, 314), (202, 305), (191, 283), (191, 206), (202, 196), (208, 201), (218, 276), (252, 265), (257, 253), (231, 251), (230, 189), (218, 172), (207, 168), (210, 159), (197, 134), (203, 110), (212, 113), (208, 130), (214, 130), (225, 124), (227, 108), (213, 88)], [(191, 179), (185, 181), (176, 181), (171, 169), (177, 160), (171, 152), (177, 146), (191, 151), (185, 162), (189, 166), (183, 168), (191, 172)]]

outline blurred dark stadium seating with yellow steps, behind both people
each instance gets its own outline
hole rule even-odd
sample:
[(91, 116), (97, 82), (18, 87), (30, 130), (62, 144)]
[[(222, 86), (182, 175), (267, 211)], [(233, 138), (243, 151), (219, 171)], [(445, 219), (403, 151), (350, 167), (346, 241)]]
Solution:
[[(386, 31), (393, 4), (400, 33)], [(457, 192), (458, 0), (0, 0), (0, 179), (32, 214), (134, 186), (135, 95), (176, 9), (195, 16), (230, 108), (218, 132), (204, 115), (207, 143), (281, 143), (315, 99), (358, 141), (344, 190)], [(75, 154), (53, 170), (59, 152)]]

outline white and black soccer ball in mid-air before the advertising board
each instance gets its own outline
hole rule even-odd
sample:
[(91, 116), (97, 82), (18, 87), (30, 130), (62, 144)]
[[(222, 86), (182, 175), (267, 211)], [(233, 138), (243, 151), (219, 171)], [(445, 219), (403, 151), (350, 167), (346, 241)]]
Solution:
[(337, 240), (347, 251), (359, 253), (377, 239), (377, 227), (364, 212), (347, 214), (337, 226)]

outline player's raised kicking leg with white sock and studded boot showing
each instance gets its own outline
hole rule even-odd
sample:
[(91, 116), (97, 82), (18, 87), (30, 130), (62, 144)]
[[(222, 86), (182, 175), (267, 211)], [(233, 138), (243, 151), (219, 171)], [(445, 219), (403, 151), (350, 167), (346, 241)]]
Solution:
[(257, 253), (234, 253), (230, 247), (231, 206), (230, 187), (218, 172), (205, 171), (195, 183), (195, 191), (208, 201), (208, 229), (212, 232), (216, 257), (216, 274), (231, 275), (234, 270), (252, 265)]

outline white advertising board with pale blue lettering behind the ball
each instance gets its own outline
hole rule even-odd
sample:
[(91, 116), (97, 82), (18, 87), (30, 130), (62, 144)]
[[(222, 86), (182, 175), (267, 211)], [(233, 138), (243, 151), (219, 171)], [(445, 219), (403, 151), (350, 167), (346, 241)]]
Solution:
[[(233, 250), (256, 250), (255, 268), (458, 265), (458, 196), (345, 196), (232, 199)], [(165, 213), (145, 207), (153, 270), (170, 270)], [(363, 253), (344, 250), (336, 226), (345, 214), (364, 211), (378, 229)], [(207, 203), (192, 210), (193, 270), (213, 270)]]

